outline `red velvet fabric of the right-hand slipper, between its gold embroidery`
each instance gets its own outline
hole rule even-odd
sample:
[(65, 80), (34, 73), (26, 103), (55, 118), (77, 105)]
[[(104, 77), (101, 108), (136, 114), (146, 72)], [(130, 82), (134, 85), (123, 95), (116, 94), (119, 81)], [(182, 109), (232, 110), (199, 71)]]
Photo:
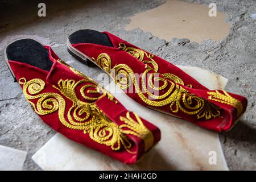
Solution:
[[(109, 36), (114, 47), (106, 47), (106, 46), (101, 46), (98, 44), (90, 44), (90, 43), (73, 44), (72, 46), (77, 51), (84, 53), (84, 55), (88, 57), (93, 57), (94, 59), (97, 59), (98, 55), (100, 55), (101, 53), (107, 53), (111, 58), (111, 62), (112, 62), (111, 68), (115, 67), (115, 65), (126, 64), (128, 67), (130, 67), (133, 70), (134, 73), (138, 73), (139, 75), (142, 74), (147, 69), (145, 67), (145, 64), (142, 63), (142, 61), (136, 59), (134, 56), (118, 48), (120, 43), (125, 43), (126, 47), (134, 47), (134, 48), (138, 48), (138, 47), (133, 46), (132, 44), (126, 42), (125, 40), (122, 40), (117, 36), (110, 34), (109, 32), (104, 32), (104, 33)], [(240, 117), (241, 114), (245, 112), (246, 106), (247, 106), (247, 100), (245, 97), (239, 96), (237, 94), (228, 93), (230, 96), (232, 96), (236, 100), (239, 100), (242, 104), (243, 108), (242, 108), (241, 114), (237, 115), (236, 107), (233, 107), (231, 105), (224, 104), (221, 102), (209, 100), (208, 92), (216, 92), (216, 90), (209, 90), (205, 88), (205, 86), (201, 85), (198, 81), (196, 81), (194, 78), (189, 76), (187, 73), (183, 72), (181, 69), (177, 68), (175, 65), (168, 63), (167, 61), (161, 59), (158, 56), (154, 55), (154, 60), (159, 65), (159, 71), (158, 71), (159, 73), (172, 73), (173, 75), (180, 77), (181, 80), (183, 80), (184, 85), (181, 85), (181, 84), (176, 84), (176, 85), (180, 85), (181, 87), (188, 90), (190, 94), (194, 94), (195, 96), (204, 98), (205, 100), (208, 100), (210, 103), (220, 107), (220, 111), (221, 111), (220, 117), (215, 117), (212, 119), (203, 119), (203, 118), (197, 119), (196, 115), (188, 115), (182, 111), (173, 113), (170, 110), (170, 105), (165, 105), (160, 107), (148, 105), (142, 101), (138, 93), (127, 92), (129, 88), (124, 89), (123, 91), (125, 91), (125, 93), (133, 100), (139, 102), (144, 106), (151, 107), (152, 109), (160, 110), (160, 111), (163, 111), (164, 113), (169, 113), (171, 115), (175, 115), (176, 117), (186, 119), (187, 121), (195, 123), (195, 125), (204, 127), (205, 129), (215, 130), (218, 132), (229, 130), (237, 121), (238, 117)], [(155, 73), (155, 72), (151, 70), (149, 73)], [(163, 77), (163, 76), (159, 74), (159, 77)], [(141, 80), (137, 80), (137, 81), (141, 83)], [(171, 82), (171, 81), (168, 80), (168, 82)], [(189, 88), (188, 86), (185, 86), (185, 85), (192, 85), (192, 88)], [(140, 89), (142, 90), (142, 85), (140, 84), (139, 86), (140, 86)], [(170, 86), (160, 91), (159, 95), (166, 93), (169, 88)], [(224, 94), (224, 92), (222, 92), (221, 90), (218, 90), (218, 92), (220, 92), (221, 94)]]

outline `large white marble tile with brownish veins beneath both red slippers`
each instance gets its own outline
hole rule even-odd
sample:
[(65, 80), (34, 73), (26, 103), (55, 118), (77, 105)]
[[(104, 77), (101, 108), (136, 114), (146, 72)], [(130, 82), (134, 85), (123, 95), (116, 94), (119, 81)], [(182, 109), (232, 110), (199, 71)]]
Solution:
[[(179, 67), (209, 89), (223, 89), (228, 81), (201, 68)], [(106, 89), (113, 88), (119, 90), (113, 82)], [(32, 159), (44, 170), (228, 170), (217, 133), (143, 107), (119, 91), (113, 94), (127, 109), (154, 123), (162, 133), (160, 142), (138, 163), (122, 164), (61, 134), (52, 137)], [(209, 164), (210, 152), (216, 154), (216, 164)]]

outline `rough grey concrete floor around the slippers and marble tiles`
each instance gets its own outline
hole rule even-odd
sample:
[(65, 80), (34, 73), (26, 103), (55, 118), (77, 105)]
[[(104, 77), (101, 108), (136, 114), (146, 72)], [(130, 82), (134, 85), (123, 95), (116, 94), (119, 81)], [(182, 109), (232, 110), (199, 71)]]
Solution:
[[(179, 46), (175, 40), (159, 39), (138, 28), (125, 31), (129, 16), (152, 9), (164, 1), (46, 1), (47, 16), (39, 18), (38, 2), (0, 2), (0, 144), (28, 151), (24, 170), (39, 170), (31, 156), (54, 134), (30, 109), (19, 84), (13, 82), (4, 62), (4, 48), (11, 40), (30, 37), (53, 47), (61, 59), (89, 77), (97, 78), (100, 69), (82, 65), (66, 51), (66, 39), (81, 28), (110, 31), (115, 35), (151, 51), (174, 64), (208, 69), (229, 79), (228, 92), (242, 94), (249, 100), (241, 121), (220, 140), (231, 170), (256, 169), (256, 13), (254, 0), (188, 1), (216, 2), (218, 11), (228, 15), (229, 35), (220, 42), (205, 40), (201, 44)], [(150, 19), (148, 19), (150, 21)], [(213, 52), (213, 53), (209, 53)]]

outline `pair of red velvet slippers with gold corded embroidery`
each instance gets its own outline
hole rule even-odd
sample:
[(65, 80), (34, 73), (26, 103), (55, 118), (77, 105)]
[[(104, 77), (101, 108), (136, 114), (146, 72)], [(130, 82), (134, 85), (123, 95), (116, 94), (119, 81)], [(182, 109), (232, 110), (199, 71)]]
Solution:
[[(206, 129), (227, 131), (246, 110), (246, 98), (209, 90), (175, 65), (109, 32), (79, 30), (67, 46), (77, 59), (102, 68), (139, 104)], [(49, 46), (20, 39), (6, 47), (5, 55), (32, 109), (65, 137), (127, 164), (159, 142), (158, 127), (126, 110)]]

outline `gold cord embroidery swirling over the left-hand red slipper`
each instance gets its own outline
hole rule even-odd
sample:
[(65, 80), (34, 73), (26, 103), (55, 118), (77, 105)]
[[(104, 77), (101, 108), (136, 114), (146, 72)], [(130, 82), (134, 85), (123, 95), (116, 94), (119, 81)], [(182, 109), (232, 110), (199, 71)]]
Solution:
[[(79, 100), (76, 95), (77, 86), (85, 82), (88, 85), (83, 85), (80, 88), (80, 93), (88, 102)], [(58, 111), (60, 122), (64, 126), (73, 130), (84, 130), (84, 134), (89, 134), (89, 137), (97, 143), (110, 146), (114, 151), (120, 150), (121, 146), (129, 151), (132, 143), (129, 138), (126, 137), (126, 134), (131, 134), (139, 138), (142, 137), (145, 144), (150, 143), (150, 146), (147, 145), (147, 147), (152, 147), (153, 143), (151, 141), (154, 140), (154, 137), (152, 138), (150, 135), (151, 131), (143, 125), (138, 115), (134, 114), (137, 118), (136, 122), (129, 118), (129, 114), (126, 114), (129, 122), (122, 117), (120, 119), (124, 121), (125, 124), (118, 126), (98, 109), (93, 101), (104, 96), (108, 97), (110, 100), (113, 100), (114, 97), (112, 94), (105, 92), (104, 89), (102, 90), (96, 82), (89, 78), (77, 82), (75, 82), (75, 80), (60, 80), (58, 86), (53, 86), (73, 102), (67, 115), (65, 115), (66, 103), (60, 94), (50, 92), (41, 93), (45, 88), (45, 82), (43, 80), (35, 78), (27, 81), (26, 78), (20, 78), (19, 84), (23, 85), (24, 96), (37, 114), (47, 115)], [(86, 96), (86, 93), (102, 94), (98, 97), (91, 97)], [(36, 104), (31, 101), (35, 99), (37, 100)]]

